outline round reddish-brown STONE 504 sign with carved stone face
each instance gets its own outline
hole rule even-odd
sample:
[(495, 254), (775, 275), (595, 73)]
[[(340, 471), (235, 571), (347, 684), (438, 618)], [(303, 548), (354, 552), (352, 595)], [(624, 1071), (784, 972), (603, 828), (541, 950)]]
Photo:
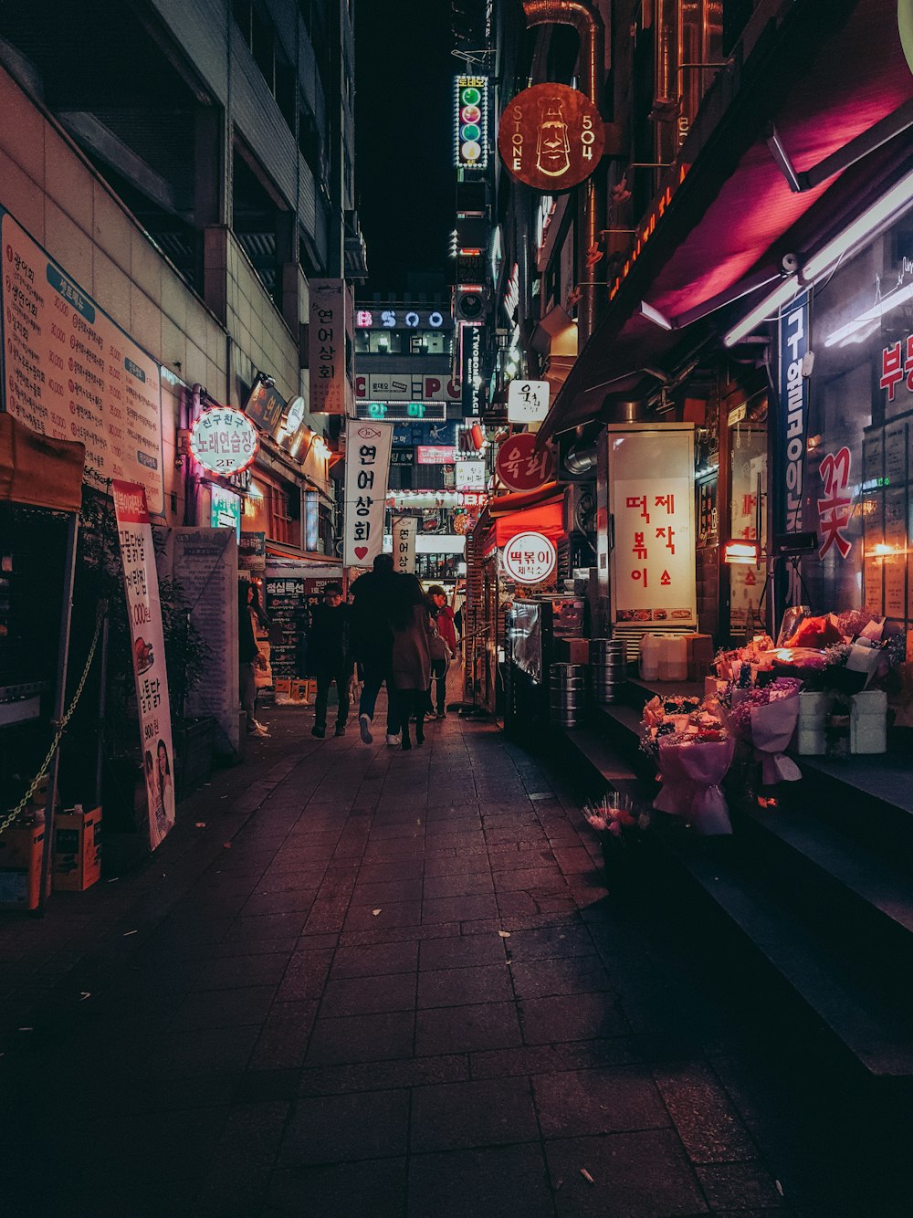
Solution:
[(599, 164), (604, 144), (599, 111), (566, 84), (523, 89), (498, 127), (498, 151), (508, 173), (550, 195), (584, 181)]

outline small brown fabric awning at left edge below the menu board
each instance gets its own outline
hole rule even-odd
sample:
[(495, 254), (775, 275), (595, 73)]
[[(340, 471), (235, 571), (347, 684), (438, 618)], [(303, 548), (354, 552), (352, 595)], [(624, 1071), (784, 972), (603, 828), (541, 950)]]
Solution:
[(0, 414), (0, 501), (79, 512), (84, 469), (85, 445), (51, 440)]

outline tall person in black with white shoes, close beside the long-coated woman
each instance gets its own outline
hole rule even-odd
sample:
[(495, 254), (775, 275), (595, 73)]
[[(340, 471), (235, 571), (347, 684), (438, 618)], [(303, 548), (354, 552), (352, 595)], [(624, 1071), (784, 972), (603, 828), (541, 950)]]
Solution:
[(358, 702), (358, 730), (370, 744), (374, 708), (380, 688), (387, 686), (387, 744), (399, 744), (399, 709), (393, 683), (393, 632), (390, 626), (393, 585), (397, 576), (390, 554), (377, 554), (374, 569), (352, 585), (352, 650), (363, 675)]

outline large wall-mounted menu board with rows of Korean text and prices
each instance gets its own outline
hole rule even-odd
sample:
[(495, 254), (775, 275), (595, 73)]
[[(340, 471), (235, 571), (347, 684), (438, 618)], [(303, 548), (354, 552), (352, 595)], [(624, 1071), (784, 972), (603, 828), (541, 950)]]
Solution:
[(158, 364), (0, 208), (5, 408), (85, 445), (85, 481), (138, 484), (164, 510)]

